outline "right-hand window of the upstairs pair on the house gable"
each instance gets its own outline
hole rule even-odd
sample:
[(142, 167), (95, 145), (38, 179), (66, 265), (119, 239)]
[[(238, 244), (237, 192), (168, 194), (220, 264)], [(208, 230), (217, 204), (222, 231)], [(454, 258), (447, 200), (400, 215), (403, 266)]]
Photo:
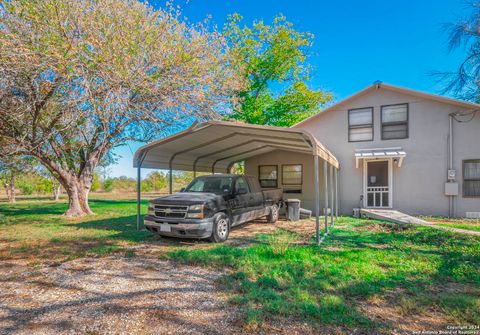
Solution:
[(382, 140), (408, 138), (408, 104), (382, 106)]

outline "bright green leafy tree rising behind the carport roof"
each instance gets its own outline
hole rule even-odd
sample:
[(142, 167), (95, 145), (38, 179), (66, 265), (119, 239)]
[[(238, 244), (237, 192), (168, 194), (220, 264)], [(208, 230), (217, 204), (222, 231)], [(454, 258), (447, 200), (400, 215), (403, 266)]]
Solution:
[(230, 116), (255, 124), (291, 126), (317, 113), (332, 99), (329, 92), (309, 88), (307, 63), (313, 35), (295, 30), (284, 16), (272, 25), (241, 24), (231, 15), (224, 33), (247, 82), (238, 92), (241, 103)]

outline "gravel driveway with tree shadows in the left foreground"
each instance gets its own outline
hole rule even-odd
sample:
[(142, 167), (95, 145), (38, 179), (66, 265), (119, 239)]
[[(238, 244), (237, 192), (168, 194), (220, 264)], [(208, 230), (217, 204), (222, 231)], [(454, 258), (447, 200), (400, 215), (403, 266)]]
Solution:
[(0, 263), (0, 334), (235, 334), (220, 274), (153, 257)]

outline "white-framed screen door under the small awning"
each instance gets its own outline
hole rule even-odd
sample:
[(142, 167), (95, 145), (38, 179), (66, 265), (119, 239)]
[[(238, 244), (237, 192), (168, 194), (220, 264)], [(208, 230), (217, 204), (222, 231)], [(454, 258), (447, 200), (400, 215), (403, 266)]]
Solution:
[(364, 160), (363, 201), (366, 208), (392, 208), (392, 160)]

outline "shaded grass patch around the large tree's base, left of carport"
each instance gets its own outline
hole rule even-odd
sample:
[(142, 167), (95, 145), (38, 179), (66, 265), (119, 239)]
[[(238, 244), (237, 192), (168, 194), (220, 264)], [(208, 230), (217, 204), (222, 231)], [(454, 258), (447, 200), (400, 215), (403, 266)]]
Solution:
[(136, 230), (134, 201), (92, 199), (90, 206), (93, 216), (65, 218), (65, 202), (1, 203), (0, 242), (7, 242), (8, 248), (0, 249), (0, 259), (103, 256), (151, 238), (148, 232)]

